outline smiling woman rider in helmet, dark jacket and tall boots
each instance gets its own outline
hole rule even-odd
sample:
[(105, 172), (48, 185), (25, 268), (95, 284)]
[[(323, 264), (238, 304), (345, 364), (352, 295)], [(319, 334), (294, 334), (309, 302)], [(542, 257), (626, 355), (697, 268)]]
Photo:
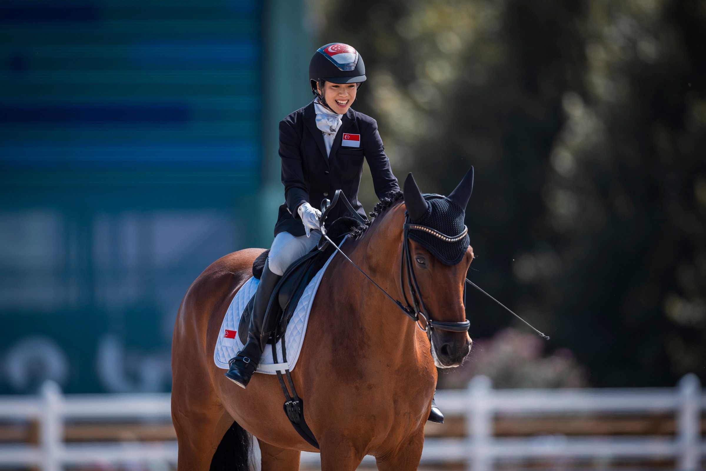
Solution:
[[(263, 326), (270, 296), (285, 270), (313, 249), (321, 238), (319, 217), (323, 198), (341, 189), (359, 215), (363, 158), (373, 177), (375, 194), (383, 198), (400, 191), (374, 119), (351, 109), (358, 88), (366, 80), (363, 59), (348, 44), (319, 48), (309, 62), (314, 100), (280, 121), (280, 157), (285, 203), (280, 206), (275, 240), (260, 278), (248, 341), (229, 362), (225, 374), (238, 386), (248, 386), (274, 326)], [(330, 220), (345, 215), (344, 205), (333, 208)], [(271, 318), (272, 316), (270, 316)], [(443, 422), (433, 405), (429, 417)]]

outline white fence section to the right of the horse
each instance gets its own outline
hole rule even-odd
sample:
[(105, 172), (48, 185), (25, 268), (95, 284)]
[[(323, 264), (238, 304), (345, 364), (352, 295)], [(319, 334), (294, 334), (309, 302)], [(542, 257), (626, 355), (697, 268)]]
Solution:
[[(700, 431), (706, 395), (698, 378), (687, 375), (677, 388), (492, 390), (488, 378), (478, 376), (467, 390), (439, 391), (437, 401), (447, 415), (467, 417), (464, 439), (427, 439), (423, 460), (465, 459), (474, 471), (493, 468), (499, 458), (674, 458), (677, 469), (700, 469), (706, 441)], [(674, 413), (677, 431), (659, 436), (531, 436), (493, 437), (493, 415), (566, 413)]]

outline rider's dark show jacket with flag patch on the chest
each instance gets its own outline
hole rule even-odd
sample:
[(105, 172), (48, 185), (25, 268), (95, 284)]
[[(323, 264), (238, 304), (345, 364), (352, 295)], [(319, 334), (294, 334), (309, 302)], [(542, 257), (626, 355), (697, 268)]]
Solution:
[[(360, 147), (342, 146), (344, 133), (359, 134)], [(294, 236), (304, 235), (304, 224), (297, 214), (299, 205), (309, 203), (321, 209), (323, 198), (333, 198), (333, 193), (339, 189), (357, 213), (365, 216), (365, 210), (358, 202), (363, 157), (368, 161), (378, 198), (389, 191), (400, 189), (390, 169), (388, 156), (385, 155), (378, 124), (371, 117), (352, 109), (341, 117), (341, 126), (328, 157), (323, 134), (316, 127), (313, 102), (289, 114), (280, 121), (280, 157), (285, 203), (280, 206), (275, 235), (285, 231)], [(337, 205), (329, 213), (328, 222), (345, 214), (345, 205)]]

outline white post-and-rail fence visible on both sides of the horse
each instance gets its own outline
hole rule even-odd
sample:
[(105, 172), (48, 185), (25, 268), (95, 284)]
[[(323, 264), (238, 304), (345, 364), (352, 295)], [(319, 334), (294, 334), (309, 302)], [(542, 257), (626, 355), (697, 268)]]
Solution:
[[(488, 378), (474, 378), (466, 390), (440, 390), (437, 402), (447, 416), (466, 418), (464, 438), (426, 439), (422, 463), (465, 462), (474, 471), (489, 471), (501, 459), (513, 458), (671, 458), (678, 470), (695, 471), (706, 456), (700, 422), (706, 395), (698, 378), (688, 375), (677, 388), (493, 390)], [(168, 394), (61, 395), (47, 383), (42, 395), (0, 398), (0, 421), (35, 420), (38, 445), (0, 445), (0, 467), (32, 466), (60, 471), (90, 463), (176, 463), (177, 443), (66, 443), (64, 423), (76, 419), (161, 419), (170, 417)], [(674, 436), (493, 436), (493, 416), (566, 413), (673, 413)], [(371, 457), (365, 462), (370, 462)], [(318, 454), (302, 453), (302, 463), (316, 465)], [(605, 463), (605, 461), (604, 461)]]

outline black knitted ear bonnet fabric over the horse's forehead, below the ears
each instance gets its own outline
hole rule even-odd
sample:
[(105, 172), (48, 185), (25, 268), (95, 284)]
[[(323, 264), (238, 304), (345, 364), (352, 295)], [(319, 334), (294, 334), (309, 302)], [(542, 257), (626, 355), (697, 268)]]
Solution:
[(470, 244), (468, 228), (463, 223), (465, 209), (441, 195), (424, 194), (424, 199), (429, 208), (418, 220), (409, 220), (409, 239), (444, 265), (460, 263)]

